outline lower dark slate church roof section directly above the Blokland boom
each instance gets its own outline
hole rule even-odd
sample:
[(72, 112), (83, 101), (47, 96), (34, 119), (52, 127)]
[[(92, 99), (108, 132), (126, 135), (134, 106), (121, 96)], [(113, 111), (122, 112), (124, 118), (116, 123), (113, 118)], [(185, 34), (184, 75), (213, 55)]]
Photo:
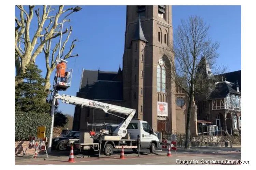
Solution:
[(86, 98), (93, 100), (123, 100), (123, 83), (116, 81), (98, 81), (91, 86)]

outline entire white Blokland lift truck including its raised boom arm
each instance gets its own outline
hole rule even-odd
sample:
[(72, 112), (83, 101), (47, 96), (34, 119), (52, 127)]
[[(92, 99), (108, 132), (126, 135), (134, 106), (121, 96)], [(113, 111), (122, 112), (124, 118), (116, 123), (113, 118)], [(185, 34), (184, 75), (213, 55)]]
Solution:
[[(93, 109), (100, 109), (107, 114), (111, 114), (123, 119), (123, 121), (111, 134), (109, 134), (108, 130), (101, 130), (97, 135), (93, 132), (81, 133), (79, 140), (70, 141), (70, 143), (74, 144), (75, 150), (99, 151), (104, 152), (106, 156), (110, 156), (113, 154), (114, 148), (120, 149), (124, 147), (137, 151), (138, 147), (140, 147), (150, 149), (151, 153), (155, 153), (156, 148), (160, 147), (159, 139), (150, 125), (146, 121), (133, 119), (133, 116), (136, 113), (135, 109), (65, 94), (61, 96), (58, 93), (54, 96), (54, 98), (62, 100), (62, 103), (79, 105), (82, 108), (89, 107)], [(116, 114), (123, 115), (123, 117)]]

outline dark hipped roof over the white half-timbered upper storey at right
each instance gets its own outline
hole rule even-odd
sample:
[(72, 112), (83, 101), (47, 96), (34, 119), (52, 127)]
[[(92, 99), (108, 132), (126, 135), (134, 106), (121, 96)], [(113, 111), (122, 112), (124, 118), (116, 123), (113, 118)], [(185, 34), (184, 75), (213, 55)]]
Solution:
[(214, 90), (211, 92), (207, 100), (225, 98), (229, 92), (232, 94), (241, 95), (241, 92), (238, 92), (233, 88), (233, 86), (236, 86), (236, 84), (227, 81), (219, 82), (216, 84)]

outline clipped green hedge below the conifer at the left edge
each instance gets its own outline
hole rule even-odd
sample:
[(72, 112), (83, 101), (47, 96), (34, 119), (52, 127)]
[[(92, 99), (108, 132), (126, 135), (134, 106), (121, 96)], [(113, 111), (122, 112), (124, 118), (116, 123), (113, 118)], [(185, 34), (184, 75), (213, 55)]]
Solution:
[(45, 136), (50, 136), (52, 119), (49, 114), (15, 112), (15, 141), (37, 136), (39, 126), (46, 126)]

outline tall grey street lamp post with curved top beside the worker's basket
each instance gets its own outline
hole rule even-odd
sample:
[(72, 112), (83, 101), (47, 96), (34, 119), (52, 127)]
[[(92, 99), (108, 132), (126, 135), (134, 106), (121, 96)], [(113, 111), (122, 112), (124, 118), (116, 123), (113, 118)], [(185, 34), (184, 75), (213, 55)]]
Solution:
[[(60, 32), (60, 41), (59, 41), (59, 54), (58, 54), (58, 59), (56, 60), (57, 63), (60, 62), (60, 48), (61, 48), (61, 39), (62, 39), (62, 29), (63, 29), (63, 23), (65, 22), (65, 18), (67, 18), (69, 15), (71, 15), (73, 12), (78, 12), (82, 10), (82, 8), (80, 6), (76, 6), (72, 12), (70, 12), (68, 15), (66, 15), (62, 22), (61, 22), (61, 32)], [(57, 90), (54, 89), (54, 95), (57, 93)], [(47, 152), (51, 153), (52, 151), (52, 140), (53, 140), (53, 127), (54, 127), (54, 111), (55, 111), (55, 103), (56, 103), (56, 99), (53, 98), (52, 101), (52, 124), (51, 124), (51, 132), (50, 132), (50, 139), (48, 141), (48, 145), (47, 145)]]

